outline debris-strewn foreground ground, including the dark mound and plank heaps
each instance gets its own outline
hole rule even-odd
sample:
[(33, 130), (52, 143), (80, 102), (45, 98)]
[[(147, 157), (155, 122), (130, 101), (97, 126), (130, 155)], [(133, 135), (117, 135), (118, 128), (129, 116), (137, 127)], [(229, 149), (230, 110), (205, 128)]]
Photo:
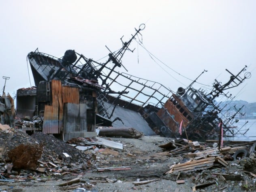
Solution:
[(224, 141), (220, 150), (218, 141), (159, 136), (64, 142), (42, 132), (28, 135), (7, 128), (0, 132), (0, 146), (0, 189), (27, 191), (26, 183), (36, 188), (57, 182), (53, 191), (255, 190), (254, 142)]

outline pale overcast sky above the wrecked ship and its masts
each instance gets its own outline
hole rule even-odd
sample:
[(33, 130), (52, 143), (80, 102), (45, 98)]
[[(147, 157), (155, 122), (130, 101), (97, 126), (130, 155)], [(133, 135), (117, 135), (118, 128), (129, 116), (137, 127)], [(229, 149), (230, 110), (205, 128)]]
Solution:
[[(230, 76), (226, 68), (236, 74), (247, 65), (252, 77), (231, 92), (234, 100), (256, 102), (254, 0), (0, 0), (0, 4), (1, 94), (2, 76), (11, 77), (5, 88), (11, 96), (30, 87), (30, 79), (34, 85), (26, 56), (36, 48), (56, 57), (75, 49), (98, 60), (109, 53), (105, 45), (112, 51), (121, 48), (120, 38), (124, 35), (128, 41), (134, 28), (145, 23), (141, 32), (145, 48), (189, 79), (208, 70), (198, 82), (211, 85), (217, 78), (225, 83)], [(154, 62), (136, 41), (130, 48), (136, 48), (134, 53), (122, 59), (129, 74), (175, 92), (191, 83), (160, 61)]]

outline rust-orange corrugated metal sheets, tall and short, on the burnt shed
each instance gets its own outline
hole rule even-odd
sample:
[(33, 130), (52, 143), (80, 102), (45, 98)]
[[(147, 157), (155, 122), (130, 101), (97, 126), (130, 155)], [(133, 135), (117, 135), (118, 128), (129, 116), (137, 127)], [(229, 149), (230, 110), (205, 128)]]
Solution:
[(43, 132), (48, 134), (60, 133), (63, 127), (64, 103), (79, 103), (79, 89), (62, 87), (61, 81), (51, 81), (52, 105), (45, 105)]

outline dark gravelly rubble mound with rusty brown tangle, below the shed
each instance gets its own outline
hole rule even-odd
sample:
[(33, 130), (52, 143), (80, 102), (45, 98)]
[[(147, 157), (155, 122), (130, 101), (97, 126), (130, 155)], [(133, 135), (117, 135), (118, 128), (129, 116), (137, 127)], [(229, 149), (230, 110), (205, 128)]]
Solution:
[[(42, 132), (30, 136), (14, 129), (3, 130), (0, 132), (0, 146), (3, 166), (12, 163), (13, 169), (32, 169), (47, 174), (60, 172), (63, 167), (65, 171), (72, 171), (79, 165), (82, 165), (80, 170), (87, 169), (90, 159), (90, 155), (83, 151)], [(39, 166), (43, 169), (38, 169)], [(3, 171), (6, 170), (2, 167)]]

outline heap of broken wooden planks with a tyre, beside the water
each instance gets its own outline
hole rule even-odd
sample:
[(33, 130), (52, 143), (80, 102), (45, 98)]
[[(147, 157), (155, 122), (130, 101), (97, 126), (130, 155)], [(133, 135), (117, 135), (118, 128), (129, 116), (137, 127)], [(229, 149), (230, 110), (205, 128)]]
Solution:
[(190, 178), (195, 184), (193, 191), (216, 190), (216, 185), (220, 191), (256, 189), (254, 142), (227, 142), (225, 147), (218, 147), (218, 143), (199, 144), (187, 141), (187, 144), (180, 145), (176, 142), (173, 140), (160, 147), (180, 158), (180, 162), (171, 165), (170, 170), (165, 173), (177, 183), (185, 183)]

